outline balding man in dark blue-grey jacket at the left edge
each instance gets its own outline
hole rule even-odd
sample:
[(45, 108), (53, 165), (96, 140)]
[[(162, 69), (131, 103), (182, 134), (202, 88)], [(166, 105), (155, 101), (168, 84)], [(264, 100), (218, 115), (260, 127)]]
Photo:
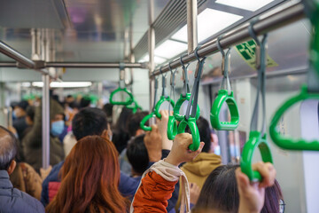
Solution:
[(13, 188), (9, 175), (15, 169), (17, 139), (0, 126), (0, 212), (44, 212), (40, 201)]

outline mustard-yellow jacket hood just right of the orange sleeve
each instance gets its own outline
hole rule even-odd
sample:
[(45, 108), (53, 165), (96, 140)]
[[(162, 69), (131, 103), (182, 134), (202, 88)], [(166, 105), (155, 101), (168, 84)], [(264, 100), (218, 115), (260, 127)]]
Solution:
[(193, 161), (183, 164), (182, 170), (187, 170), (198, 177), (207, 177), (221, 164), (220, 155), (200, 153)]

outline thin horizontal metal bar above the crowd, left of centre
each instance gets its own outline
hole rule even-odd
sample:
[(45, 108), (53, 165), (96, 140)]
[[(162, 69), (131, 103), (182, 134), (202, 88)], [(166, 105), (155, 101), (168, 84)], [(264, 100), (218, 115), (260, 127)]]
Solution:
[[(44, 67), (65, 67), (65, 68), (120, 68), (120, 62), (46, 62)], [(126, 68), (146, 68), (144, 63), (122, 63)]]

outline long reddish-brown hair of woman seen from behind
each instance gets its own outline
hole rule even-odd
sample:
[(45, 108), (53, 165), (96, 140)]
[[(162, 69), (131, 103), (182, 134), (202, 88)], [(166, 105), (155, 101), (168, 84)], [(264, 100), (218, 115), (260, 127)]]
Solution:
[(62, 182), (47, 212), (126, 212), (120, 165), (113, 143), (100, 136), (79, 140), (62, 168)]

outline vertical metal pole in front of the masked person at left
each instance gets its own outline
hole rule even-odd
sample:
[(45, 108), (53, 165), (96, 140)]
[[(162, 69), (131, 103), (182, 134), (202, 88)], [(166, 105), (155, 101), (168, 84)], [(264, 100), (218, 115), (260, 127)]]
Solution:
[(47, 169), (50, 165), (50, 94), (49, 94), (50, 76), (43, 74), (43, 99), (42, 99), (42, 117), (43, 117), (43, 168)]

